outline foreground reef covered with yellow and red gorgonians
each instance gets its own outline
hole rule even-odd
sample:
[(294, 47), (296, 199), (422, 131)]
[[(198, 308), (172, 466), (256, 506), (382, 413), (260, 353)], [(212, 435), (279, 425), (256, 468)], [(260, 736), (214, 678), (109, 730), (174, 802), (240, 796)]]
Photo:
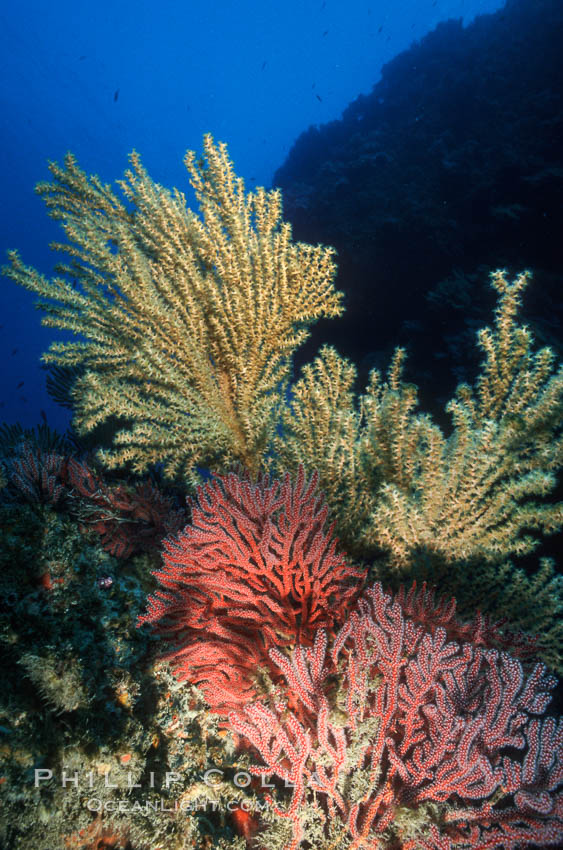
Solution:
[(4, 846), (560, 846), (563, 369), (489, 278), (444, 428), (398, 347), (363, 392), (331, 248), (204, 138), (199, 203), (137, 154), (39, 193), (65, 262), (5, 274), (70, 331), (64, 437), (3, 426)]

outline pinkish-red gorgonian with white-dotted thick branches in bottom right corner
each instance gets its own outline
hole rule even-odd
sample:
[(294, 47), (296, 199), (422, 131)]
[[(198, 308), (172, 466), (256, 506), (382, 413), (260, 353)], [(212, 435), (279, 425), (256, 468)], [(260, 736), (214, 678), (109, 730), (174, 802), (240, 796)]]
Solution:
[(555, 679), (430, 633), (401, 600), (376, 584), (330, 644), (320, 629), (291, 659), (272, 648), (285, 696), (229, 715), (251, 771), (291, 788), (268, 798), (284, 850), (563, 846), (563, 720), (541, 716)]

